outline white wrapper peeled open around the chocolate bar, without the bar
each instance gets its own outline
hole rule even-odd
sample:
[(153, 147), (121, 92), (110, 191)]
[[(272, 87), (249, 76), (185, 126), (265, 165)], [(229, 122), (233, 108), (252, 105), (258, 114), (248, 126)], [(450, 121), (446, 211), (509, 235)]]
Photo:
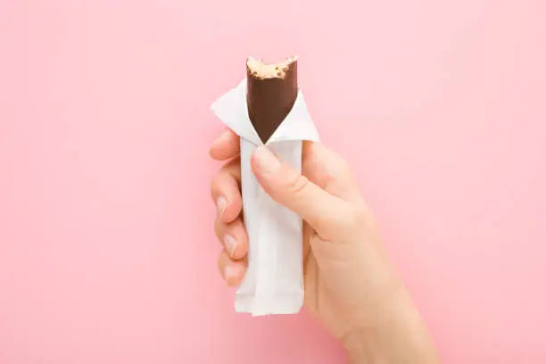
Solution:
[[(302, 219), (274, 202), (252, 174), (250, 158), (262, 145), (246, 107), (246, 80), (212, 104), (227, 128), (241, 136), (244, 224), (249, 238), (248, 270), (237, 288), (235, 307), (252, 316), (297, 313), (303, 304)], [(295, 170), (302, 170), (302, 140), (318, 141), (302, 91), (292, 111), (266, 145)]]

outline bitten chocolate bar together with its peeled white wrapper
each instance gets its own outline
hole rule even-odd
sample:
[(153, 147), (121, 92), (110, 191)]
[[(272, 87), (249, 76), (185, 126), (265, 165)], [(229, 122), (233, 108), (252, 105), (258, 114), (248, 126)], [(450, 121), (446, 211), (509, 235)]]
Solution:
[(280, 161), (301, 172), (303, 141), (318, 142), (318, 132), (297, 84), (294, 57), (277, 64), (246, 61), (246, 79), (211, 106), (241, 141), (241, 194), (249, 249), (235, 309), (252, 316), (294, 314), (302, 308), (305, 291), (302, 218), (263, 190), (252, 173), (251, 159), (269, 142), (268, 149)]

